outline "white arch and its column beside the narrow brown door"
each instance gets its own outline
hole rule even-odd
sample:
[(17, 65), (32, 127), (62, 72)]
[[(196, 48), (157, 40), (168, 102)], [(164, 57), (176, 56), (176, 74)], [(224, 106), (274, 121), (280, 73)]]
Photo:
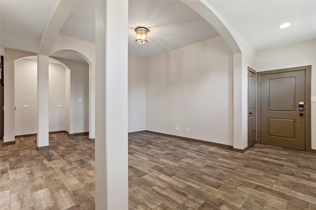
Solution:
[(254, 67), (254, 49), (231, 27), (206, 0), (181, 0), (195, 10), (224, 38), (234, 54), (234, 150), (244, 152), (248, 139), (247, 72)]

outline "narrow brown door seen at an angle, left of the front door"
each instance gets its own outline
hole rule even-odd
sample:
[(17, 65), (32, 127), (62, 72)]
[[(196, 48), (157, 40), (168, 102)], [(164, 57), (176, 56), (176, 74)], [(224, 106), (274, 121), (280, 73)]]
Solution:
[(248, 147), (256, 140), (256, 74), (248, 67)]

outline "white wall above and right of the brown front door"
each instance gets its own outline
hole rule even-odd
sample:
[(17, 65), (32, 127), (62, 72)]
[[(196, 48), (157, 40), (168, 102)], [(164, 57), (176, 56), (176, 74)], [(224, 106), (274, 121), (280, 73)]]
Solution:
[[(316, 39), (258, 52), (256, 71), (312, 65), (311, 95), (316, 96)], [(312, 102), (312, 149), (316, 149), (316, 102)]]

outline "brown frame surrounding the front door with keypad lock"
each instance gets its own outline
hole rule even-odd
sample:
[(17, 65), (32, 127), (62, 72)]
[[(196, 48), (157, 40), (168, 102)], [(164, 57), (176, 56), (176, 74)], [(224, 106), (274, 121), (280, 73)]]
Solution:
[(312, 149), (311, 134), (311, 78), (312, 66), (302, 66), (279, 70), (268, 70), (257, 72), (257, 143), (261, 143), (260, 105), (261, 105), (261, 75), (272, 73), (283, 73), (289, 71), (305, 70), (305, 151), (314, 152)]

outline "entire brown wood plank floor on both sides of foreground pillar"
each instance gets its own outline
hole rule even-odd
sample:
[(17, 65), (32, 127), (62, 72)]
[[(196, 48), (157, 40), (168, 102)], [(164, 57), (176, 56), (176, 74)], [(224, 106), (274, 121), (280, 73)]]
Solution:
[[(0, 147), (0, 210), (92, 210), (94, 143), (52, 134)], [(257, 144), (245, 153), (129, 135), (131, 210), (316, 210), (316, 154)]]

